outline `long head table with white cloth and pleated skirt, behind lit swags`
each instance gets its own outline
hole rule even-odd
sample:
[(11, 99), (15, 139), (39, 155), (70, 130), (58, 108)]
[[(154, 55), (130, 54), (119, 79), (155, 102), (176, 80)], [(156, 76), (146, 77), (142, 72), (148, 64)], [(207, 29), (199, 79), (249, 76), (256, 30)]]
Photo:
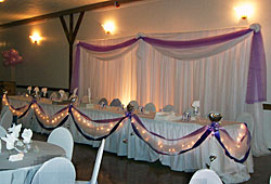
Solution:
[[(22, 100), (16, 96), (10, 96), (10, 104), (13, 107), (21, 107), (23, 105), (29, 104), (29, 101)], [(53, 105), (47, 103), (39, 103), (42, 106), (43, 111), (49, 115), (53, 115), (65, 105)], [(119, 114), (114, 114), (107, 110), (99, 110), (92, 108), (86, 108), (86, 106), (77, 107), (78, 111), (91, 117), (91, 119), (111, 119), (119, 118)], [(8, 111), (9, 108), (5, 106), (2, 109), (2, 114)], [(166, 119), (149, 119), (140, 118), (145, 128), (152, 132), (163, 135), (167, 139), (177, 139), (202, 128), (205, 124), (210, 123), (210, 121), (205, 119), (197, 119), (194, 121), (183, 121), (183, 120), (166, 120)], [(249, 154), (248, 158), (244, 163), (235, 162), (225, 156), (224, 150), (219, 145), (214, 136), (209, 135), (201, 146), (186, 152), (181, 155), (163, 155), (157, 154), (145, 142), (139, 139), (132, 129), (131, 123), (126, 123), (130, 119), (125, 120), (120, 123), (118, 129), (107, 136), (105, 142), (105, 150), (111, 153), (116, 153), (118, 156), (127, 156), (128, 158), (133, 158), (134, 160), (143, 160), (149, 162), (154, 162), (159, 160), (162, 165), (170, 167), (175, 171), (185, 171), (193, 172), (202, 168), (206, 168), (206, 165), (210, 165), (210, 168), (215, 170), (224, 183), (241, 183), (250, 179), (249, 173), (254, 172), (253, 157)], [(34, 116), (34, 111), (29, 110), (26, 116), (18, 119), (24, 127), (30, 128), (36, 132), (50, 133), (50, 131), (44, 130), (40, 127), (37, 119)], [(69, 116), (65, 121), (63, 127), (66, 127), (72, 132), (75, 142), (89, 144), (94, 147), (100, 145), (100, 141), (89, 141), (78, 132), (73, 118)], [(241, 129), (240, 122), (234, 121), (222, 121), (221, 124), (231, 135), (235, 139), (238, 136), (238, 130)], [(215, 156), (215, 160), (210, 162), (210, 156)]]

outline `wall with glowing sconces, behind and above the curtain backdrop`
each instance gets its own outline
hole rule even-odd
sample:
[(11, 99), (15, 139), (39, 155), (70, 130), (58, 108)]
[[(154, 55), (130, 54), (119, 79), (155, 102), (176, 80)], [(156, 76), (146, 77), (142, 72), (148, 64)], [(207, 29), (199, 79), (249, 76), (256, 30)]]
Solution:
[[(206, 29), (246, 26), (259, 23), (267, 54), (268, 73), (271, 71), (271, 6), (270, 0), (254, 0), (255, 14), (247, 21), (240, 21), (233, 8), (237, 0), (152, 0), (147, 2), (120, 5), (87, 12), (77, 39), (108, 39), (137, 35), (138, 32), (183, 32)], [(101, 24), (112, 18), (116, 22), (115, 35), (106, 35)], [(33, 28), (39, 27), (48, 40), (36, 47), (28, 40)], [(12, 27), (0, 31), (0, 42), (16, 48), (24, 63), (16, 66), (18, 84), (68, 88), (68, 44), (59, 18), (37, 25)], [(0, 47), (0, 51), (5, 48)], [(2, 63), (2, 58), (0, 57)], [(0, 65), (0, 80), (10, 80), (9, 68)], [(268, 91), (271, 90), (268, 76)], [(268, 94), (271, 103), (271, 95)]]

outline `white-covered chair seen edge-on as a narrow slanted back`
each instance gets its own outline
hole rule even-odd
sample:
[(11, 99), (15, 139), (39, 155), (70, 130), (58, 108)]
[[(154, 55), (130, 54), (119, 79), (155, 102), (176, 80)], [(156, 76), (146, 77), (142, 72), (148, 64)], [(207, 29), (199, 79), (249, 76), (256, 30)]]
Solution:
[(102, 140), (102, 143), (101, 143), (100, 148), (98, 150), (95, 165), (94, 165), (94, 169), (93, 169), (90, 182), (88, 182), (88, 181), (76, 181), (76, 184), (95, 184), (95, 183), (98, 183), (96, 179), (98, 179), (98, 173), (99, 173), (99, 169), (100, 169), (102, 157), (103, 157), (104, 144), (105, 144), (105, 139)]

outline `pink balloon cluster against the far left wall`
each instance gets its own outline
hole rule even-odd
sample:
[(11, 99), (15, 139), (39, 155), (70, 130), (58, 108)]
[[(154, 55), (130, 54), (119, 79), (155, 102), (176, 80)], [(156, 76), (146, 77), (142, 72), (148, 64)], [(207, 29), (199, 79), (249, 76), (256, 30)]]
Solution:
[(18, 54), (18, 52), (15, 49), (3, 51), (2, 56), (4, 66), (15, 65), (23, 61), (23, 57)]

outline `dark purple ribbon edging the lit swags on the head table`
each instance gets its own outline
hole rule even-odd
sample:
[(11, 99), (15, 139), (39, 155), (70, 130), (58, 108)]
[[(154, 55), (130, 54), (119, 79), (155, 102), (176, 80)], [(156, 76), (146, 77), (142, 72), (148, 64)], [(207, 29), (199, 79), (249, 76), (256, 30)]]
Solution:
[[(8, 101), (8, 97), (7, 97), (7, 101)], [(30, 106), (35, 104), (38, 106), (38, 108), (40, 109), (40, 111), (42, 114), (44, 114), (44, 110), (42, 109), (42, 107), (37, 103), (36, 100), (33, 100), (30, 102), (30, 104), (28, 105), (28, 108), (26, 110), (26, 113), (30, 109)], [(11, 104), (9, 103), (8, 101), (8, 105), (11, 106)], [(26, 106), (23, 106), (23, 107), (26, 107)], [(22, 109), (22, 107), (18, 107), (17, 109)], [(100, 120), (92, 120), (90, 117), (88, 117), (87, 115), (85, 115), (83, 113), (79, 111), (78, 109), (76, 109), (73, 104), (69, 104), (68, 106), (62, 108), (61, 110), (59, 110), (56, 114), (54, 114), (53, 116), (55, 115), (59, 115), (59, 114), (62, 114), (63, 111), (65, 111), (66, 109), (68, 109), (68, 114), (55, 126), (46, 126), (42, 123), (42, 121), (39, 119), (36, 110), (34, 110), (34, 114), (35, 114), (35, 117), (38, 121), (38, 123), (41, 126), (41, 128), (46, 129), (46, 130), (54, 130), (55, 128), (57, 127), (61, 127), (63, 126), (66, 120), (68, 119), (69, 115), (72, 116), (73, 118), (73, 121), (77, 128), (77, 130), (87, 139), (87, 140), (92, 140), (92, 141), (101, 141), (103, 139), (106, 139), (107, 136), (109, 136), (111, 134), (113, 134), (119, 127), (119, 124), (127, 118), (130, 119), (130, 122), (131, 122), (131, 127), (132, 127), (132, 130), (133, 132), (138, 135), (138, 137), (140, 137), (143, 142), (145, 142), (152, 149), (154, 149), (156, 153), (158, 154), (162, 154), (162, 155), (180, 155), (180, 154), (184, 154), (186, 152), (190, 152), (196, 147), (198, 147), (199, 145), (202, 145), (203, 142), (205, 142), (205, 140), (209, 136), (210, 133), (214, 133), (217, 141), (219, 142), (219, 144), (221, 145), (221, 147), (224, 149), (224, 153), (225, 155), (233, 159), (234, 161), (236, 162), (241, 162), (243, 163), (248, 155), (249, 155), (249, 152), (250, 152), (250, 133), (247, 129), (247, 126), (246, 127), (246, 133), (243, 135), (243, 137), (240, 140), (241, 143), (244, 143), (242, 146), (245, 146), (245, 152), (243, 153), (243, 157), (241, 159), (234, 157), (231, 155), (231, 153), (228, 150), (227, 146), (222, 143), (222, 139), (220, 139), (221, 134), (219, 133), (219, 131), (223, 132), (223, 139), (224, 140), (230, 140), (232, 142), (233, 139), (230, 136), (230, 134), (227, 132), (227, 130), (224, 130), (222, 127), (219, 126), (219, 123), (217, 122), (211, 122), (209, 126), (204, 126), (193, 132), (191, 132), (190, 134), (188, 135), (184, 135), (182, 137), (178, 137), (178, 139), (166, 139), (164, 137), (163, 135), (159, 135), (155, 132), (152, 132), (150, 130), (146, 129), (146, 127), (144, 126), (144, 123), (141, 121), (141, 119), (136, 115), (136, 114), (131, 114), (130, 111), (126, 111), (125, 113), (125, 116), (121, 116), (119, 118), (112, 118), (112, 119), (100, 119)], [(86, 118), (87, 120), (91, 120), (93, 122), (96, 122), (96, 123), (109, 123), (109, 122), (117, 122), (111, 130), (109, 132), (105, 133), (104, 135), (101, 135), (99, 137), (94, 137), (94, 135), (89, 135), (88, 133), (85, 133), (83, 130), (80, 128), (80, 126), (78, 124), (78, 122), (76, 121), (75, 119), (75, 115), (73, 113), (73, 110), (76, 110), (76, 113), (80, 114), (80, 116), (82, 116), (83, 118)], [(39, 113), (38, 113), (39, 114)], [(175, 153), (175, 154), (171, 154), (170, 150), (169, 152), (163, 152), (163, 150), (158, 150), (154, 147), (154, 145), (156, 145), (157, 143), (155, 144), (151, 144), (150, 142), (147, 142), (146, 140), (143, 139), (143, 134), (140, 133), (140, 131), (138, 130), (138, 127), (134, 126), (134, 122), (132, 122), (132, 119), (136, 120), (136, 122), (142, 128), (144, 129), (146, 132), (149, 132), (151, 135), (153, 136), (156, 136), (158, 139), (162, 139), (162, 140), (165, 140), (165, 141), (168, 141), (168, 142), (175, 142), (175, 141), (182, 141), (184, 139), (194, 139), (196, 136), (197, 140), (195, 141), (195, 143), (193, 143), (193, 146), (189, 147), (189, 148), (183, 148), (183, 149), (180, 149), (180, 152), (178, 153)], [(245, 137), (248, 137), (247, 140), (245, 140)]]

